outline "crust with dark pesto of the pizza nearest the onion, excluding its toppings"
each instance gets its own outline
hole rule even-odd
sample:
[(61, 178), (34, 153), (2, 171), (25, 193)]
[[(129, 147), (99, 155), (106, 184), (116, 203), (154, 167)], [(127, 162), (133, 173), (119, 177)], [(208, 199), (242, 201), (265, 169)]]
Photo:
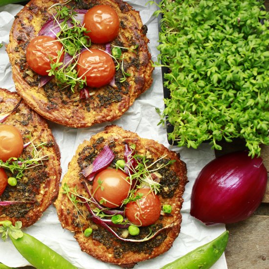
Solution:
[[(186, 165), (180, 160), (179, 155), (176, 152), (169, 151), (154, 140), (140, 138), (137, 134), (125, 131), (115, 125), (107, 126), (103, 132), (93, 135), (90, 141), (84, 141), (79, 145), (75, 156), (68, 165), (68, 171), (63, 178), (62, 185), (67, 183), (70, 189), (77, 186), (79, 194), (89, 197), (81, 182), (86, 181), (89, 189), (91, 189), (91, 183), (81, 174), (82, 170), (92, 163), (105, 145), (109, 145), (115, 154), (115, 158), (110, 165), (111, 168), (115, 168), (116, 160), (124, 159), (126, 143), (135, 144), (135, 153), (146, 156), (152, 162), (165, 155), (166, 160), (176, 160), (175, 163), (158, 170), (162, 175), (160, 181), (162, 190), (158, 194), (160, 202), (161, 204), (172, 205), (173, 211), (172, 215), (161, 216), (154, 225), (164, 227), (174, 224), (172, 228), (163, 230), (157, 237), (146, 242), (122, 242), (100, 225), (92, 223), (89, 211), (79, 203), (78, 207), (86, 218), (80, 218), (82, 230), (89, 226), (93, 229), (92, 235), (86, 238), (81, 231), (77, 213), (66, 194), (63, 194), (62, 189), (60, 189), (55, 206), (63, 228), (75, 233), (74, 237), (83, 251), (101, 261), (113, 263), (124, 268), (132, 268), (137, 262), (154, 258), (167, 251), (179, 235), (182, 195), (187, 182)], [(117, 228), (116, 230), (121, 236), (124, 230), (127, 229)], [(140, 232), (143, 231), (143, 227), (140, 227)]]

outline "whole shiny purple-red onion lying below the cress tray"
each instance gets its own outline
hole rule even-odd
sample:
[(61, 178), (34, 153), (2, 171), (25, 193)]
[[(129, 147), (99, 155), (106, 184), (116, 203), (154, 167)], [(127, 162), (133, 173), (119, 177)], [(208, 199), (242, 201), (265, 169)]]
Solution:
[(191, 195), (191, 216), (206, 225), (230, 224), (247, 219), (266, 191), (267, 170), (261, 157), (235, 152), (203, 167)]

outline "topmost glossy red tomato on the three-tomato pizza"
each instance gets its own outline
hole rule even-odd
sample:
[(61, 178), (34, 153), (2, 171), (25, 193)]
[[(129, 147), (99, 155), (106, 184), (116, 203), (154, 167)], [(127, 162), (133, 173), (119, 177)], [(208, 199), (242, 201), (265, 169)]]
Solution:
[(119, 17), (108, 5), (96, 5), (90, 8), (84, 17), (84, 26), (91, 42), (103, 44), (114, 40), (119, 31)]

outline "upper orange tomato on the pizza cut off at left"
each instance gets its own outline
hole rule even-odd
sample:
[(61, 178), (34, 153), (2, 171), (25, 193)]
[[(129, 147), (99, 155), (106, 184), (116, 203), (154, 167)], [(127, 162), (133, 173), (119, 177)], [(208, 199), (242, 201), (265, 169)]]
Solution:
[(18, 158), (23, 150), (22, 134), (12, 126), (0, 125), (0, 160), (6, 162), (11, 157)]

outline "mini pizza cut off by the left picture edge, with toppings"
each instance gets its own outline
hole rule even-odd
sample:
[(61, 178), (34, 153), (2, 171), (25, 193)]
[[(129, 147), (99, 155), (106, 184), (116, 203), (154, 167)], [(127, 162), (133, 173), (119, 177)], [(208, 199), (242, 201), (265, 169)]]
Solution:
[(60, 151), (45, 119), (0, 89), (0, 221), (34, 224), (58, 195)]

